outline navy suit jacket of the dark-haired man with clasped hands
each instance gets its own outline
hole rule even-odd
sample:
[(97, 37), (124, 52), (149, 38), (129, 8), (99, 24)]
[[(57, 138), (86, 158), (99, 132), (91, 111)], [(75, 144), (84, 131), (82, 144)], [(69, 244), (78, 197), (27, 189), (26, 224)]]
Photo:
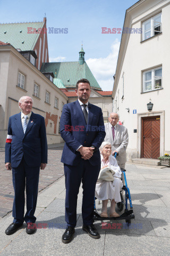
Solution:
[[(79, 101), (64, 105), (60, 119), (60, 132), (65, 140), (61, 162), (69, 165), (78, 165), (81, 161), (79, 146), (94, 145), (97, 151), (89, 159), (92, 165), (100, 163), (99, 147), (105, 138), (105, 126), (101, 108), (88, 105), (88, 124), (83, 115)], [(88, 161), (88, 160), (87, 160)]]

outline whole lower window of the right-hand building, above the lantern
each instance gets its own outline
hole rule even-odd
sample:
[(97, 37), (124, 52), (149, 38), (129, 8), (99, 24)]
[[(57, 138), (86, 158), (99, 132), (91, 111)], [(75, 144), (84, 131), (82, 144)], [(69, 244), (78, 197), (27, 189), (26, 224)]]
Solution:
[(162, 88), (162, 67), (143, 72), (143, 92)]

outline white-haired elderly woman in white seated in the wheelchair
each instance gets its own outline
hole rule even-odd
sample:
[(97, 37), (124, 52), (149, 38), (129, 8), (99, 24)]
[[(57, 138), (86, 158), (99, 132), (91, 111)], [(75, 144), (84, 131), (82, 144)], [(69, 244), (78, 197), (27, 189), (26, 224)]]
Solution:
[[(116, 158), (112, 156), (111, 143), (103, 142), (100, 146), (100, 154), (101, 170), (99, 173), (98, 181), (96, 183), (95, 191), (95, 196), (99, 200), (102, 200), (102, 209), (100, 216), (106, 218), (108, 217), (107, 203), (108, 199), (110, 199), (111, 208), (109, 212), (109, 217), (119, 217), (120, 215), (115, 211), (115, 206), (116, 203), (121, 202), (120, 190), (123, 187), (123, 183), (121, 181), (121, 169), (117, 164)], [(108, 177), (108, 173), (109, 178), (102, 178)]]

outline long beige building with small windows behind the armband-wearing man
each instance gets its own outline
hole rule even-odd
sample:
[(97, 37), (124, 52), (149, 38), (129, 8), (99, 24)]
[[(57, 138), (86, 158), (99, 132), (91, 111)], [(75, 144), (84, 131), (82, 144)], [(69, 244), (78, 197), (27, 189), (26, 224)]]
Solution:
[(32, 97), (32, 111), (44, 116), (48, 144), (63, 142), (60, 117), (68, 98), (53, 83), (52, 73), (42, 74), (26, 57), (31, 61), (36, 55), (33, 51), (21, 54), (0, 42), (0, 147), (5, 145), (8, 118), (20, 112), (18, 100), (23, 95)]

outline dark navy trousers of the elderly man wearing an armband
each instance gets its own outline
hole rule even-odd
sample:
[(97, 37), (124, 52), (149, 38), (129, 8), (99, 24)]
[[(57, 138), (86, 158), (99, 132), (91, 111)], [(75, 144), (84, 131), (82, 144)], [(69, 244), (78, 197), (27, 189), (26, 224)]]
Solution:
[[(13, 187), (15, 191), (15, 197), (13, 202), (12, 216), (14, 217), (14, 223), (23, 223), (36, 221), (36, 217), (33, 215), (36, 211), (37, 196), (38, 196), (38, 181), (39, 181), (39, 167), (29, 167), (24, 158), (18, 167), (12, 168)], [(27, 212), (24, 216), (24, 204), (25, 204), (25, 190), (27, 195)]]

